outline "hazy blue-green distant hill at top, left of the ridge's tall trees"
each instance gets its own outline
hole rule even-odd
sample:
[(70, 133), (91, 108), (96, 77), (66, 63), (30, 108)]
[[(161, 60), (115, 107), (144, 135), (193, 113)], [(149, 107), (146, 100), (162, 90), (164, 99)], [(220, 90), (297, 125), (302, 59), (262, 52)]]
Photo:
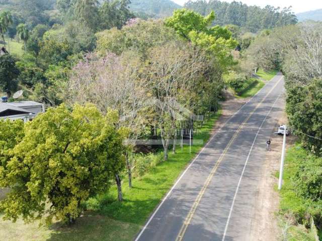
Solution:
[(170, 0), (131, 0), (130, 4), (130, 10), (143, 18), (169, 17), (174, 10), (181, 8)]

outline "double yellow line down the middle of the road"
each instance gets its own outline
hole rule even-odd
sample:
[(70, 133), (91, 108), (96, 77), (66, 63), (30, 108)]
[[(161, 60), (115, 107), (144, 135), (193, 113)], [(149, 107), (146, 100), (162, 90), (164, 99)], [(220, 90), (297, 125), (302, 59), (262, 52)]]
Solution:
[(208, 178), (206, 179), (205, 184), (203, 185), (203, 187), (201, 188), (195, 202), (193, 203), (188, 216), (185, 219), (185, 222), (183, 223), (180, 232), (176, 238), (176, 241), (181, 241), (186, 233), (186, 230), (191, 222), (191, 219), (193, 217), (193, 215), (196, 212), (196, 209), (207, 189), (207, 187), (210, 184), (211, 179), (213, 178), (213, 176), (215, 175), (215, 173), (217, 172), (217, 169), (221, 163), (221, 161), (223, 160), (225, 154), (227, 153), (228, 149), (230, 148), (231, 144), (233, 143), (233, 141), (236, 139), (237, 135), (239, 134), (240, 130), (244, 127), (244, 125), (249, 121), (249, 119), (251, 118), (251, 116), (255, 113), (255, 111), (260, 107), (260, 105), (266, 100), (266, 98), (271, 94), (271, 92), (275, 89), (275, 87), (279, 84), (279, 82), (283, 79), (283, 77), (281, 77), (276, 84), (272, 87), (272, 89), (266, 94), (266, 96), (263, 98), (263, 100), (258, 103), (258, 105), (255, 107), (255, 109), (248, 115), (248, 117), (245, 119), (245, 121), (239, 126), (239, 128), (237, 129), (237, 131), (234, 133), (234, 135), (232, 136), (232, 138), (230, 139), (228, 145), (226, 146), (226, 148), (224, 149), (224, 151), (222, 152), (222, 154), (220, 155), (216, 165), (213, 167), (213, 169), (211, 170)]

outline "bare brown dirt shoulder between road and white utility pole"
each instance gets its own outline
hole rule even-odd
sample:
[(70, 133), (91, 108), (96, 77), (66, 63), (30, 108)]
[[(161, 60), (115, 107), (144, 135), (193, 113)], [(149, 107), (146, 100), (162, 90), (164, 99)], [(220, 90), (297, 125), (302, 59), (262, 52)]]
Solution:
[[(286, 114), (283, 113), (276, 119), (276, 123), (287, 123)], [(278, 124), (276, 124), (276, 130)], [(287, 146), (295, 143), (296, 138), (289, 136)], [(273, 241), (280, 240), (282, 230), (278, 225), (277, 213), (279, 209), (279, 194), (277, 191), (278, 178), (283, 145), (283, 137), (271, 135), (271, 151), (266, 153), (265, 164), (262, 168), (262, 175), (258, 186), (256, 197), (256, 210), (252, 222), (251, 241)]]

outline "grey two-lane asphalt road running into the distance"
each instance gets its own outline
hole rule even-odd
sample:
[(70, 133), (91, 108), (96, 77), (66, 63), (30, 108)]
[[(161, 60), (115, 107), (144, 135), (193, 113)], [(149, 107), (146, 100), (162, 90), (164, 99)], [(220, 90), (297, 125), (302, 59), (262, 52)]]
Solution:
[(249, 240), (266, 140), (283, 111), (283, 93), (278, 74), (228, 119), (135, 240)]

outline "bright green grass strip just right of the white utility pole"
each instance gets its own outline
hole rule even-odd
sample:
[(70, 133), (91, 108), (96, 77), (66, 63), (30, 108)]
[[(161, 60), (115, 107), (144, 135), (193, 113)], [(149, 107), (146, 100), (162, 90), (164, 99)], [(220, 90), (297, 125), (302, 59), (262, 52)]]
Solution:
[[(292, 185), (292, 178), (294, 176), (295, 167), (297, 165), (296, 160), (304, 159), (307, 155), (306, 151), (296, 145), (289, 148), (285, 158), (285, 169), (283, 175), (283, 187), (280, 191), (280, 214), (284, 216), (296, 215), (296, 213), (305, 213), (307, 206), (305, 200), (298, 197), (294, 191)], [(278, 176), (278, 174), (277, 174)], [(287, 224), (284, 219), (281, 223), (282, 229), (286, 230), (287, 238), (289, 241), (314, 241), (314, 236), (309, 230), (307, 230), (304, 225), (290, 225)], [(288, 227), (288, 228), (285, 228)]]

